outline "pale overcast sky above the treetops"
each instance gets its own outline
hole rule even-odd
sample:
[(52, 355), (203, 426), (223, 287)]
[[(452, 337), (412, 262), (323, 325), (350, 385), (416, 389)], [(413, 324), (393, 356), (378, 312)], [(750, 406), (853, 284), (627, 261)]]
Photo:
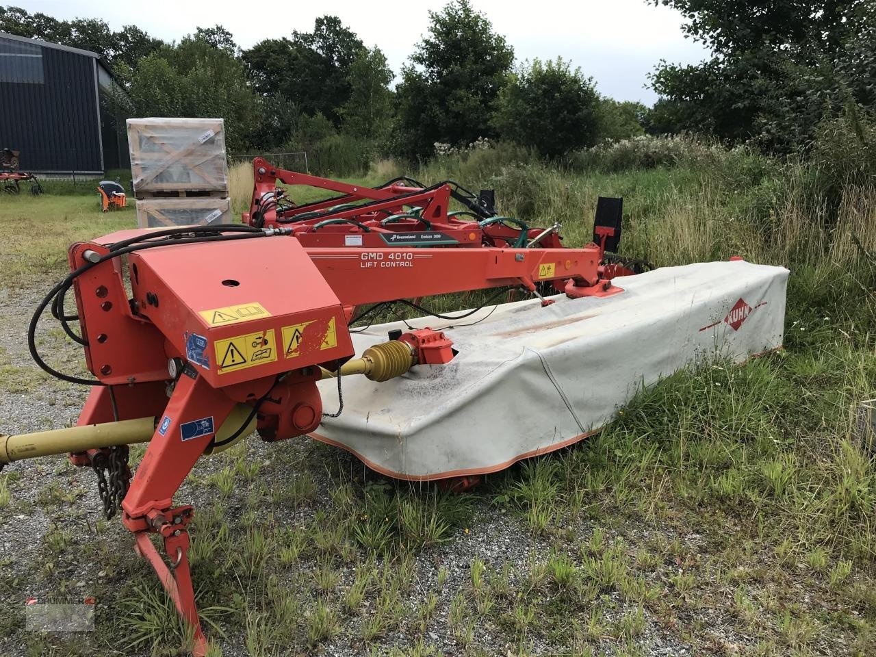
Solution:
[[(427, 32), (428, 10), (444, 0), (320, 0), (268, 2), (241, 0), (10, 0), (27, 11), (42, 11), (55, 18), (103, 18), (113, 30), (138, 25), (152, 36), (178, 40), (197, 26), (223, 25), (237, 44), (250, 47), (262, 39), (308, 32), (314, 18), (335, 14), (367, 46), (377, 45), (398, 74)], [(478, 11), (505, 35), (518, 60), (562, 55), (597, 81), (598, 90), (618, 100), (652, 103), (647, 74), (661, 59), (696, 63), (708, 54), (703, 46), (684, 39), (681, 16), (646, 0), (473, 0)]]

